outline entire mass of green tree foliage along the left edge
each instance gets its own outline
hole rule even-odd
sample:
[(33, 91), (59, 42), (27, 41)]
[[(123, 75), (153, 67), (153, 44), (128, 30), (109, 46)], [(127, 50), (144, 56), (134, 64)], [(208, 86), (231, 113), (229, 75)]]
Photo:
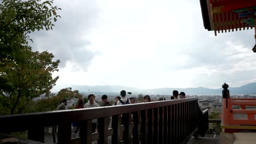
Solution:
[[(52, 29), (57, 20), (53, 0), (3, 0), (0, 2), (0, 115), (22, 113), (32, 99), (49, 92), (57, 79), (59, 60), (47, 51), (32, 52), (29, 34)], [(9, 109), (9, 111), (6, 111)]]

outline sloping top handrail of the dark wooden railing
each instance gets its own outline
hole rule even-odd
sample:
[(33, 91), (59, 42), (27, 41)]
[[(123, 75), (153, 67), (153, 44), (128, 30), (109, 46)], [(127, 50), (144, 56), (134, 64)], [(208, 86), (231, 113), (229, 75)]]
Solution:
[[(136, 111), (143, 111), (148, 109), (154, 109), (157, 107), (164, 107), (167, 105), (174, 105), (184, 103), (187, 101), (197, 100), (198, 98), (186, 98), (178, 100), (165, 100), (165, 101), (154, 101), (150, 103), (138, 103), (129, 105), (117, 105), (108, 107), (97, 107), (91, 109), (75, 109), (75, 110), (62, 110), (62, 111), (48, 111), (48, 112), (35, 112), (35, 113), (24, 113), (15, 115), (0, 116), (0, 127), (1, 129), (8, 129), (7, 123), (11, 123), (15, 129), (25, 129), (31, 125), (42, 125), (44, 127), (59, 124), (60, 122), (78, 122), (86, 121), (90, 119), (109, 117), (114, 115), (121, 115), (123, 113), (132, 113)], [(17, 123), (17, 120), (22, 122)]]

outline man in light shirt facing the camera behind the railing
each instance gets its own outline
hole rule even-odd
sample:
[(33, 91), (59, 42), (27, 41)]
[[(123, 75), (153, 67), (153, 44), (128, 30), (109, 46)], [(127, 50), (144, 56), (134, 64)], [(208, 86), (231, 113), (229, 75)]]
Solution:
[[(88, 95), (88, 100), (89, 101), (88, 101), (88, 103), (86, 103), (84, 105), (84, 108), (100, 107), (100, 105), (95, 103), (94, 99), (95, 99), (95, 95), (94, 94), (89, 94)], [(92, 125), (91, 125), (92, 133), (95, 133), (96, 126), (97, 126), (97, 119), (92, 119)]]

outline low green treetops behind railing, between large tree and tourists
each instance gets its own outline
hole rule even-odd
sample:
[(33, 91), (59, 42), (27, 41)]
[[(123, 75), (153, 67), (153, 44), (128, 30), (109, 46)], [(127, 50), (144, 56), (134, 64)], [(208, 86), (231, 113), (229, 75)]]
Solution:
[(32, 101), (28, 105), (27, 112), (42, 112), (56, 110), (63, 99), (82, 98), (78, 90), (72, 91), (71, 87), (63, 88), (57, 95), (50, 94), (49, 98)]

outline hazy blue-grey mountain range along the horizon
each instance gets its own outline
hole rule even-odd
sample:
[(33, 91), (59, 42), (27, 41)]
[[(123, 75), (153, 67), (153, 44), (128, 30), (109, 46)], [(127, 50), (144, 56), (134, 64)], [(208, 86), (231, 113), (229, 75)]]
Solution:
[[(69, 85), (69, 86), (55, 86), (51, 91), (59, 92), (60, 89), (72, 87), (72, 89), (77, 89), (79, 92), (102, 92), (102, 93), (119, 93), (121, 90), (125, 89), (126, 92), (132, 92), (133, 94), (172, 94), (173, 90), (179, 92), (185, 92), (187, 95), (212, 95), (212, 94), (222, 94), (223, 88), (210, 89), (204, 87), (197, 88), (155, 88), (155, 89), (141, 89), (135, 87), (124, 87), (124, 86), (86, 86), (86, 85)], [(256, 82), (249, 83), (241, 87), (230, 87), (230, 94), (256, 94)]]

